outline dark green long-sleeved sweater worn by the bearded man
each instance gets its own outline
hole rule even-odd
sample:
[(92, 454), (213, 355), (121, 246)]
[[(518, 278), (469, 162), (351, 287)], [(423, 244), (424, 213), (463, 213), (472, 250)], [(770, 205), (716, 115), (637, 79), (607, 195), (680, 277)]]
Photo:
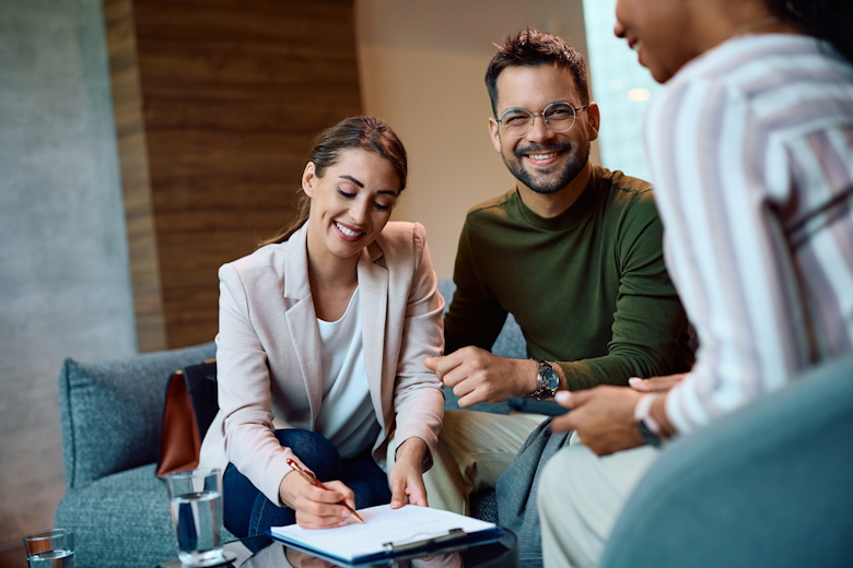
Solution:
[(556, 217), (515, 189), (477, 205), (459, 238), (445, 353), (491, 350), (510, 312), (528, 355), (561, 362), (572, 390), (689, 370), (662, 242), (651, 185), (600, 167)]

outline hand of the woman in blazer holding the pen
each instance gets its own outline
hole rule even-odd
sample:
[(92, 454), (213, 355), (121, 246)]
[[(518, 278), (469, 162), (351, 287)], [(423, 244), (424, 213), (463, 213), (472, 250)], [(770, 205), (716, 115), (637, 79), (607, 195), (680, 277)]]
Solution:
[(296, 524), (303, 529), (347, 524), (352, 518), (350, 509), (355, 508), (355, 496), (342, 482), (324, 482), (323, 487), (318, 487), (295, 469), (281, 481), (279, 497), (296, 511)]

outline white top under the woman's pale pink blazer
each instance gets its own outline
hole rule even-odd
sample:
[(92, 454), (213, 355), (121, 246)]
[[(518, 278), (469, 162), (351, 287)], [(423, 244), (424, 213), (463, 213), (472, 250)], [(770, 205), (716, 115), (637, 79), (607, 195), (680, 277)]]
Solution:
[(360, 313), (357, 287), (338, 321), (317, 319), (323, 343), (323, 406), (315, 428), (342, 458), (372, 448), (381, 429), (367, 387)]

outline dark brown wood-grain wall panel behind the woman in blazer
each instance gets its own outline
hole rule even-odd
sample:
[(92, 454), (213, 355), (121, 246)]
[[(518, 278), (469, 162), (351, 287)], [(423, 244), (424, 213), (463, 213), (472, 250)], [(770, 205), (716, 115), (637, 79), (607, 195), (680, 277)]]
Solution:
[(166, 345), (178, 347), (217, 333), (217, 269), (292, 217), (314, 135), (361, 113), (354, 0), (127, 1)]

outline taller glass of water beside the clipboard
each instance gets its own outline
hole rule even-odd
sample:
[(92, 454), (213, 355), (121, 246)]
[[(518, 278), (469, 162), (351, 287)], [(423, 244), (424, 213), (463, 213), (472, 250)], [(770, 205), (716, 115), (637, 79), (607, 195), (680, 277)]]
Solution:
[(180, 563), (222, 564), (222, 471), (202, 468), (170, 473), (166, 488)]

